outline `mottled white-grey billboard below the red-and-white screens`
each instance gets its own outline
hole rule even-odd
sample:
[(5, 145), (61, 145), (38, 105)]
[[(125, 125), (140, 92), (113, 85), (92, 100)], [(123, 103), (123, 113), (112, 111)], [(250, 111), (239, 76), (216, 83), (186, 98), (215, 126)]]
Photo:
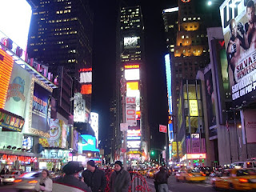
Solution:
[(86, 101), (82, 94), (74, 94), (74, 122), (86, 122)]

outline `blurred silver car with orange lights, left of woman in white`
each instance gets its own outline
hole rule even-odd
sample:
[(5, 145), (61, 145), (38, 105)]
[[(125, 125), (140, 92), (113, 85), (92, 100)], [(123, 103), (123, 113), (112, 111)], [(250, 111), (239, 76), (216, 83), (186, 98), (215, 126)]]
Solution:
[(16, 190), (34, 191), (35, 185), (38, 183), (38, 178), (42, 171), (32, 171), (22, 174), (19, 178), (14, 180), (14, 188)]

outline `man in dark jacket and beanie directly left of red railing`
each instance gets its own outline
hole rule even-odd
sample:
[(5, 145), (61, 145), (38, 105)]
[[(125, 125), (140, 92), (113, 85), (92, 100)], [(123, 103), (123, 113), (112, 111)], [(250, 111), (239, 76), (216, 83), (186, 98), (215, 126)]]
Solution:
[(130, 174), (122, 167), (122, 162), (114, 162), (114, 172), (110, 176), (110, 192), (128, 192)]

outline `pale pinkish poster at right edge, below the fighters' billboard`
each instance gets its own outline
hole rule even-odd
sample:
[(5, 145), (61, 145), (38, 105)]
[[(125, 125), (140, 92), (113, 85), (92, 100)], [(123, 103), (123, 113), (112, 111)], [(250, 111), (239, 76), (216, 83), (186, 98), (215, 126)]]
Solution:
[(256, 110), (244, 110), (246, 142), (256, 142)]

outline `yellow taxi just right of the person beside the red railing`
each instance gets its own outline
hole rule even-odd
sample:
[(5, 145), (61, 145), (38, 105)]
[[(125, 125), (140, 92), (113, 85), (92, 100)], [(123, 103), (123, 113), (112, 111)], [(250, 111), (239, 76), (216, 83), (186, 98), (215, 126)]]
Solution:
[(177, 182), (204, 182), (206, 180), (206, 174), (203, 174), (200, 170), (179, 170), (175, 178)]

